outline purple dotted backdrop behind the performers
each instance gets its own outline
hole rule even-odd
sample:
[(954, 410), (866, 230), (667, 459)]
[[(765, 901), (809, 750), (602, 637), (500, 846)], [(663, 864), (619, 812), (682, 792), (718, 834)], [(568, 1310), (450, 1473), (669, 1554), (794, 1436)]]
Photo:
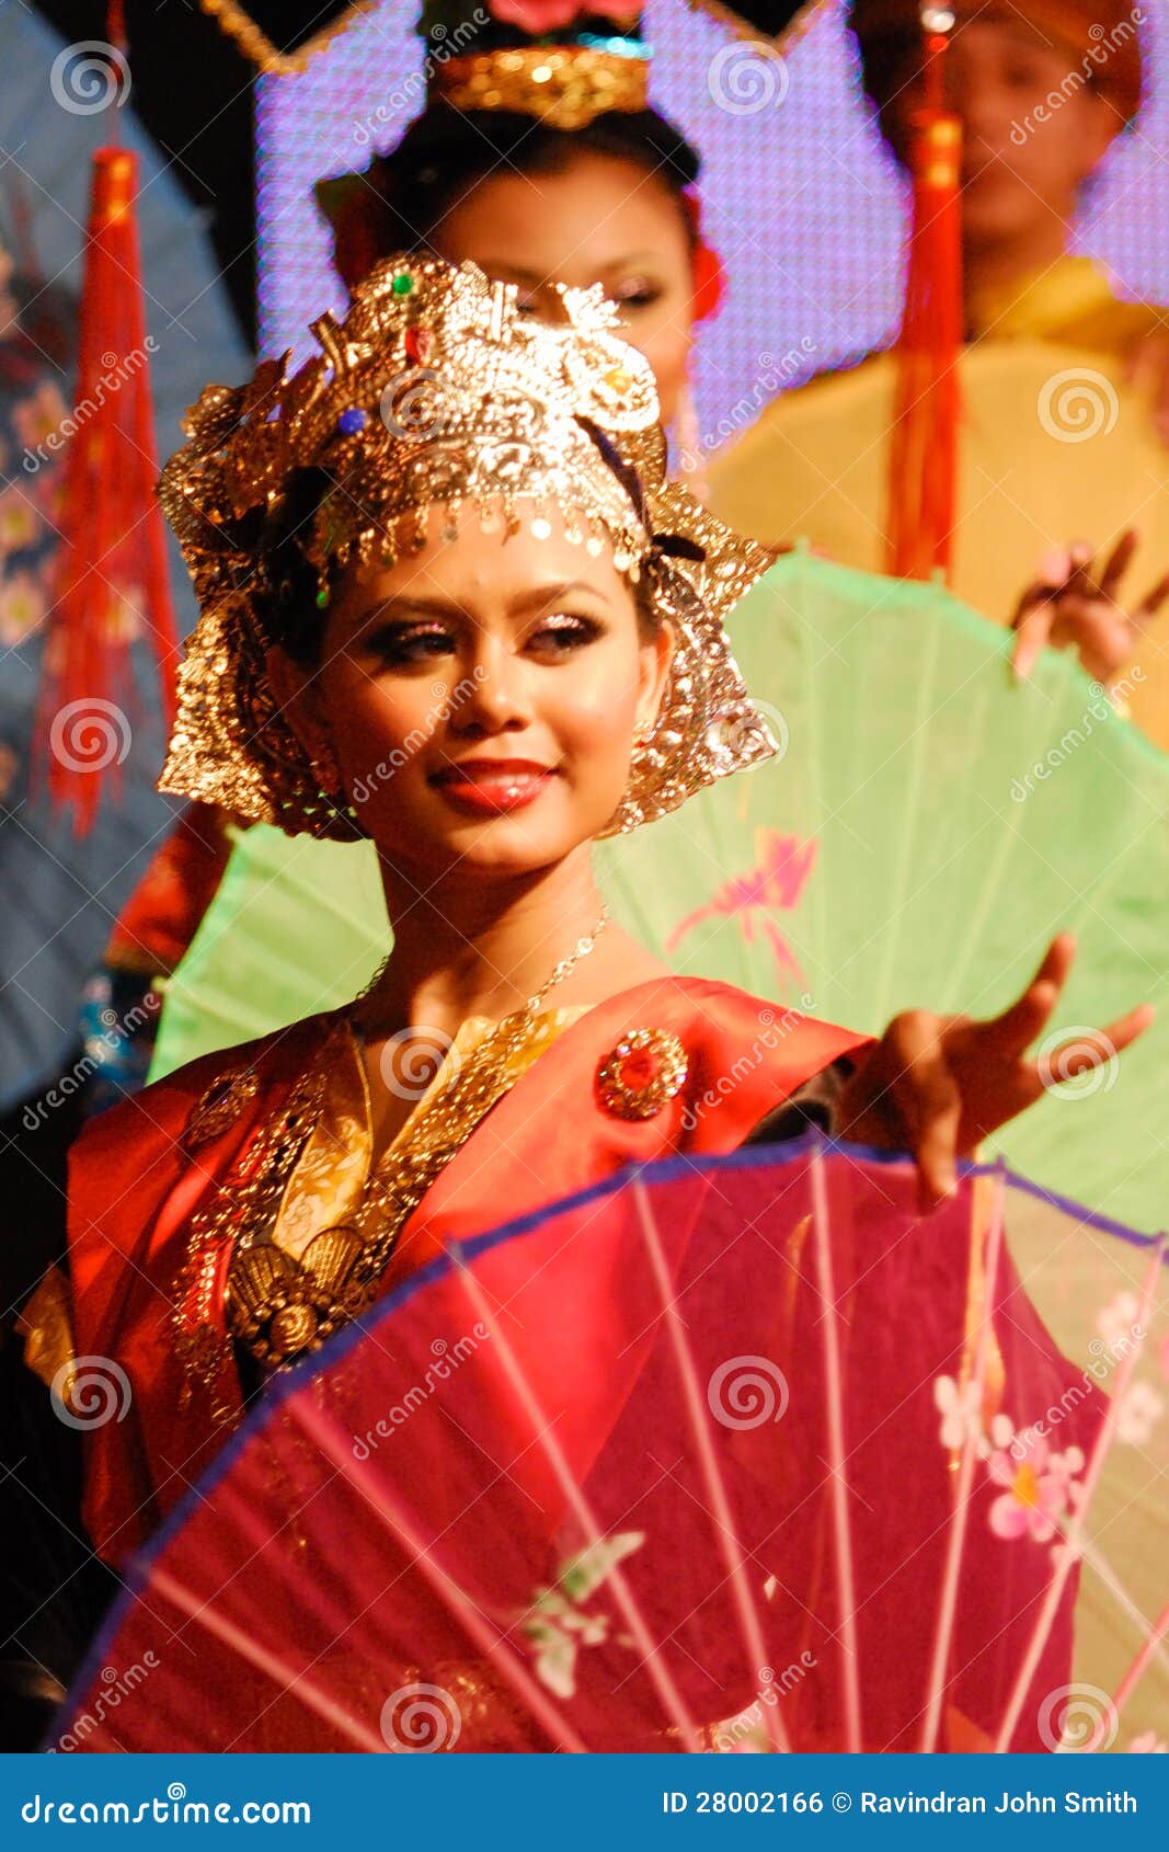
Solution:
[[(385, 0), (304, 76), (259, 85), (259, 276), (265, 352), (306, 354), (306, 324), (345, 291), (311, 185), (367, 165), (422, 106), (419, 0)], [(797, 383), (884, 344), (897, 322), (904, 198), (860, 94), (841, 0), (824, 0), (782, 63), (682, 0), (648, 0), (652, 96), (704, 156), (704, 224), (730, 294), (702, 333), (697, 396), (710, 441)], [(1080, 248), (1125, 293), (1169, 302), (1169, 44), (1145, 0), (1154, 80), (1141, 120), (1097, 176)], [(1169, 56), (1169, 52), (1165, 54)]]

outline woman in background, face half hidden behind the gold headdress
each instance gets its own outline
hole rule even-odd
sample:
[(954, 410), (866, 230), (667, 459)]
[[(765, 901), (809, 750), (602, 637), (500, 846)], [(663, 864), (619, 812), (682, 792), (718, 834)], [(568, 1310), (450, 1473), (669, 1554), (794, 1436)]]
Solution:
[[(493, 7), (435, 0), (424, 7), (419, 30), (428, 54), (426, 107), (365, 172), (317, 185), (341, 276), (356, 287), (378, 259), (398, 250), (437, 254), (456, 265), (472, 261), (489, 278), (515, 285), (521, 315), (545, 322), (563, 322), (563, 287), (600, 285), (621, 311), (624, 339), (650, 361), (661, 422), (672, 432), (689, 485), (700, 491), (687, 378), (697, 328), (719, 306), (723, 272), (702, 237), (698, 154), (648, 104), (650, 44), (639, 19), (628, 11), (610, 17), (606, 0), (582, 9), (569, 0), (550, 15), (508, 0)], [(463, 93), (471, 59), (472, 96)], [(552, 69), (556, 80), (548, 78)], [(387, 74), (387, 87), (398, 81)], [(369, 146), (369, 135), (359, 144)], [(402, 426), (415, 417), (415, 389), (417, 382), (395, 393), (393, 415)], [(321, 485), (306, 480), (293, 494), (302, 519), (313, 513), (319, 493)], [(295, 526), (289, 515), (289, 532)], [(300, 602), (309, 620), (313, 596), (315, 587)], [(304, 619), (293, 615), (289, 622), (298, 628)], [(404, 750), (398, 745), (371, 759), (359, 772), (358, 795), (365, 798), (387, 776), (398, 776)], [(233, 880), (246, 880), (252, 856), (265, 845), (283, 863), (263, 878), (272, 907), (298, 919), (311, 945), (309, 963), (317, 965), (330, 941), (339, 957), (335, 935), (315, 907), (300, 911), (291, 845), (272, 843), (267, 832), (241, 839), (232, 856)], [(380, 930), (372, 887), (371, 900)], [(241, 982), (241, 963), (233, 933), (220, 933), (220, 920), (211, 909), (206, 935), (220, 941), (217, 969), (232, 987)], [(319, 993), (306, 998), (293, 969), (283, 969), (283, 978), (287, 1020), (319, 1002)], [(180, 989), (183, 982), (185, 974)], [(167, 1065), (174, 1065), (169, 1056), (176, 1037), (182, 1046), (178, 1020), (172, 1009), (161, 1032)], [(191, 1052), (183, 1046), (180, 1059)]]

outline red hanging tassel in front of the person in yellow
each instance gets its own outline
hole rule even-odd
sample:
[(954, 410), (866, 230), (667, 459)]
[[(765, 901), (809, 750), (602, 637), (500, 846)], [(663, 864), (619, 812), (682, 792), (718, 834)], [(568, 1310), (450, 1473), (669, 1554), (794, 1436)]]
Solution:
[(913, 124), (913, 228), (897, 343), (889, 444), (889, 572), (950, 570), (962, 411), (962, 122), (943, 106), (943, 31), (926, 41), (926, 106)]

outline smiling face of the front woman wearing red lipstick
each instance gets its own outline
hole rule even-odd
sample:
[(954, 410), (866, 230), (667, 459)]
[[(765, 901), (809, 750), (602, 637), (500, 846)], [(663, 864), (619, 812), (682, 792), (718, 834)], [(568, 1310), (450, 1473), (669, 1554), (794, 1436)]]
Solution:
[[(508, 544), (472, 524), (450, 546), (446, 520), (432, 509), (419, 554), (341, 582), (317, 661), (272, 661), (308, 748), (321, 757), (321, 741), (335, 741), (341, 785), (365, 783), (354, 809), (393, 870), (396, 919), (402, 883), (448, 885), (452, 857), (459, 883), (474, 883), (484, 865), (521, 874), (600, 833), (672, 654), (611, 548), (569, 541), (559, 513)], [(395, 783), (365, 776), (383, 761)], [(467, 826), (521, 811), (522, 828)]]

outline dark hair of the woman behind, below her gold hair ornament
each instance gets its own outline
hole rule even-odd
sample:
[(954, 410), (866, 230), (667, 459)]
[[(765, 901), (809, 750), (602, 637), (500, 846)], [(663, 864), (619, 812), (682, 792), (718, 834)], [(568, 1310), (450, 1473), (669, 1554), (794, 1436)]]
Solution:
[(578, 154), (632, 161), (654, 174), (676, 196), (687, 237), (697, 239), (684, 193), (698, 178), (700, 159), (656, 109), (610, 111), (587, 128), (561, 130), (506, 109), (459, 111), (434, 102), (365, 174), (319, 181), (337, 270), (352, 289), (380, 257), (430, 248), (446, 213), (489, 174), (556, 174)]

